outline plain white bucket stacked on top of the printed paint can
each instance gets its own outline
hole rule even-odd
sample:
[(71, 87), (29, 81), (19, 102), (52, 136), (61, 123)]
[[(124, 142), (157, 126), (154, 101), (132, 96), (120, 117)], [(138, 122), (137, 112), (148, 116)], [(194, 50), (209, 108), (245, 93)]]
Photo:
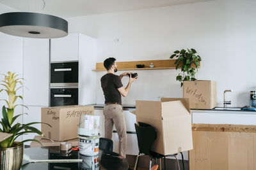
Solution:
[(99, 115), (80, 115), (77, 135), (97, 136), (99, 134)]

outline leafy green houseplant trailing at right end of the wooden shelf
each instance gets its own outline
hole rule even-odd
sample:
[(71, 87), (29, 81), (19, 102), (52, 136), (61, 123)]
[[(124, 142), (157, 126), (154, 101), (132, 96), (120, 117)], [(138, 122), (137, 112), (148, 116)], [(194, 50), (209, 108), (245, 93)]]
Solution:
[(181, 66), (182, 73), (179, 73), (176, 77), (177, 81), (180, 81), (180, 87), (183, 85), (183, 81), (196, 80), (195, 74), (198, 71), (199, 62), (201, 57), (196, 54), (196, 50), (191, 48), (188, 52), (184, 49), (176, 50), (171, 55), (170, 59), (176, 58), (174, 62), (176, 64), (175, 69)]

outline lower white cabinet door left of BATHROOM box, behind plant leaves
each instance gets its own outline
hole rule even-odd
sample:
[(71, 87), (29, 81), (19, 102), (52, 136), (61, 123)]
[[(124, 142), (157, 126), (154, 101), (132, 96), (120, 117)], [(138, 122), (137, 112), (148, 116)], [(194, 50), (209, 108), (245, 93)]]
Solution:
[[(28, 124), (31, 122), (41, 122), (41, 106), (29, 106), (28, 110), (24, 108), (24, 113), (28, 113), (28, 115), (23, 116), (23, 123)], [(31, 125), (33, 127), (36, 127), (39, 131), (41, 131), (41, 124), (34, 124)], [(38, 134), (24, 134), (23, 140), (26, 139), (33, 139)], [(25, 145), (30, 145), (31, 141), (28, 141), (25, 143)]]

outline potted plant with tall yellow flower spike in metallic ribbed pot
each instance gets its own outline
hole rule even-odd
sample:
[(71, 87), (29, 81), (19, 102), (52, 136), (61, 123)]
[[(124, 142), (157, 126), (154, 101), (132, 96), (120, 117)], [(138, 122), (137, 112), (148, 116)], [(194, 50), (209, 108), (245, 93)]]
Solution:
[[(24, 141), (17, 142), (19, 136), (28, 133), (36, 133), (42, 135), (35, 127), (32, 127), (33, 124), (43, 124), (41, 122), (31, 122), (29, 124), (20, 124), (19, 122), (14, 124), (15, 120), (21, 115), (16, 115), (13, 117), (14, 109), (16, 106), (24, 106), (22, 104), (15, 104), (15, 101), (22, 96), (17, 96), (17, 90), (22, 87), (22, 78), (17, 78), (19, 74), (8, 72), (3, 74), (4, 80), (1, 81), (1, 85), (4, 89), (1, 89), (0, 92), (5, 91), (8, 95), (8, 100), (3, 99), (6, 102), (6, 106), (2, 108), (3, 118), (0, 121), (2, 127), (0, 132), (12, 134), (9, 138), (4, 139), (0, 142), (0, 167), (1, 169), (20, 169), (23, 158), (23, 143), (26, 141), (37, 141), (35, 139), (26, 139)], [(20, 87), (16, 88), (16, 85), (20, 83)], [(26, 106), (24, 106), (26, 107)], [(41, 144), (41, 143), (40, 143)], [(42, 145), (42, 144), (41, 144)]]

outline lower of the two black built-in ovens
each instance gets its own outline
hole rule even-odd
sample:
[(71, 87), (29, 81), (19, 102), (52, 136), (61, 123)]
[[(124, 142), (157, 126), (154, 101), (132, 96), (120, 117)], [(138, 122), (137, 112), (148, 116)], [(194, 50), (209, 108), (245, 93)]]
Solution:
[(50, 106), (78, 104), (78, 87), (51, 87)]

